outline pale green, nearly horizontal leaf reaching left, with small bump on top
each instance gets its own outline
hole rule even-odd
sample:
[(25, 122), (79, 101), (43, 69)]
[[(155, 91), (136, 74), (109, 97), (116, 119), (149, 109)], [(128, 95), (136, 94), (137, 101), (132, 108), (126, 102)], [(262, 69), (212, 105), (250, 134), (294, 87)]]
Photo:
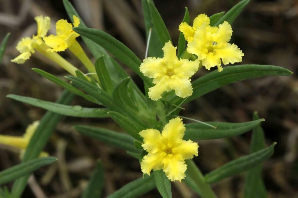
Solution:
[(109, 117), (107, 114), (109, 110), (106, 108), (84, 108), (79, 105), (69, 106), (14, 94), (9, 94), (6, 97), (66, 116)]

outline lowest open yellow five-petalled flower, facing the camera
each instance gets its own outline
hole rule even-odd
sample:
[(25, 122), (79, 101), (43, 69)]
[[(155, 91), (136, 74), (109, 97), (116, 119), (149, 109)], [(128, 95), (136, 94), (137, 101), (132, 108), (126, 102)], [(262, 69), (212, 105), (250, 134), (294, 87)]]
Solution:
[(198, 144), (183, 140), (185, 127), (182, 119), (176, 117), (164, 126), (162, 133), (146, 129), (139, 134), (144, 138), (142, 147), (148, 152), (141, 162), (142, 172), (150, 175), (151, 170), (163, 169), (171, 181), (184, 179), (186, 159), (198, 156)]

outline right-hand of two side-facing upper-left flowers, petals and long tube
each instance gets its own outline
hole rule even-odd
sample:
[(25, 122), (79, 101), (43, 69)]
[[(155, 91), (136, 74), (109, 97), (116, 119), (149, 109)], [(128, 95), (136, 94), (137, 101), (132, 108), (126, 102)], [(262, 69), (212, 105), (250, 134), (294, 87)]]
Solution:
[[(60, 19), (56, 23), (56, 33), (57, 35), (49, 35), (48, 37), (44, 37), (44, 42), (48, 45), (49, 49), (47, 51), (58, 52), (65, 51), (69, 48), (75, 56), (80, 59), (80, 61), (87, 67), (87, 69), (91, 73), (96, 73), (95, 67), (93, 63), (90, 61), (86, 53), (84, 52), (81, 45), (76, 41), (76, 38), (80, 36), (80, 34), (76, 33), (72, 30), (73, 27), (77, 27), (80, 24), (80, 19), (75, 15), (72, 16), (74, 23), (68, 23), (65, 19)], [(93, 77), (100, 83), (98, 76), (93, 75)]]

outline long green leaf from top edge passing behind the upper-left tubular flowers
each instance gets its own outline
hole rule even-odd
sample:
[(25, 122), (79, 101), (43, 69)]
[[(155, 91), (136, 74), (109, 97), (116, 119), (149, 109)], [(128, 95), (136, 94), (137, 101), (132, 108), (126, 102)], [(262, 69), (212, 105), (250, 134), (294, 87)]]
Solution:
[[(72, 4), (68, 0), (63, 0), (63, 4), (71, 21), (73, 22), (72, 16), (75, 15), (80, 19), (79, 26), (86, 28), (87, 27), (86, 24), (84, 23), (80, 15), (77, 13), (75, 8), (72, 6)], [(116, 72), (113, 63), (111, 62), (110, 56), (105, 51), (105, 49), (86, 37), (82, 37), (82, 39), (84, 43), (87, 45), (87, 47), (89, 48), (89, 50), (91, 51), (95, 59), (98, 59), (99, 57), (104, 56), (105, 64), (107, 66), (108, 72), (111, 74), (111, 77), (115, 79), (116, 82), (120, 81), (121, 80), (121, 78), (119, 77), (120, 73)]]

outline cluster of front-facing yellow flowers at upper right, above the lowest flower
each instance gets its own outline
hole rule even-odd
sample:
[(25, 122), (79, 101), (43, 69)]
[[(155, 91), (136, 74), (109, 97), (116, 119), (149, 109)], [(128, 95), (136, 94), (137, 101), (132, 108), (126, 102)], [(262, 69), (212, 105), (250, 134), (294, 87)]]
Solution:
[[(210, 26), (210, 19), (205, 14), (198, 15), (193, 26), (181, 23), (179, 30), (187, 40), (187, 52), (197, 56), (195, 61), (178, 59), (176, 47), (171, 42), (162, 48), (163, 58), (148, 57), (143, 60), (140, 71), (149, 78), (153, 78), (154, 87), (149, 88), (149, 98), (159, 100), (164, 92), (175, 90), (175, 94), (186, 98), (193, 93), (190, 77), (200, 68), (200, 65), (210, 70), (218, 67), (218, 71), (229, 63), (241, 62), (244, 54), (235, 45), (228, 43), (232, 36), (232, 27), (228, 22), (218, 27)], [(221, 61), (222, 59), (222, 61)]]

